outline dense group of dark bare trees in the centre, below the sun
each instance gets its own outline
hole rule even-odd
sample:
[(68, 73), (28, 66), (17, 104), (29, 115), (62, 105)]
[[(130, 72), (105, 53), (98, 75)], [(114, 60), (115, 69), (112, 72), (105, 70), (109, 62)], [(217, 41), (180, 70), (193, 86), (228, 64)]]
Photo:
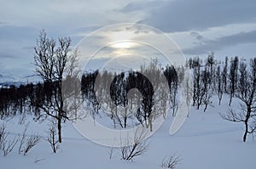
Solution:
[(177, 112), (177, 72), (173, 66), (160, 69), (157, 60), (142, 65), (141, 70), (87, 72), (82, 76), (81, 84), (91, 115), (108, 115), (114, 128), (117, 125), (129, 127), (132, 122), (129, 124), (128, 121), (136, 119), (136, 124), (152, 131), (154, 119), (160, 115), (166, 117), (169, 101), (172, 114)]

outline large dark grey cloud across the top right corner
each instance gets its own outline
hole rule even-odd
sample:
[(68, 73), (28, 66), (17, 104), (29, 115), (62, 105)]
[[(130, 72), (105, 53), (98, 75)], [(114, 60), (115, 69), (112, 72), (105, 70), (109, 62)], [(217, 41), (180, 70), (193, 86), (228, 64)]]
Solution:
[(254, 0), (175, 0), (172, 2), (129, 3), (120, 11), (143, 10), (144, 24), (165, 32), (204, 30), (210, 27), (256, 20)]

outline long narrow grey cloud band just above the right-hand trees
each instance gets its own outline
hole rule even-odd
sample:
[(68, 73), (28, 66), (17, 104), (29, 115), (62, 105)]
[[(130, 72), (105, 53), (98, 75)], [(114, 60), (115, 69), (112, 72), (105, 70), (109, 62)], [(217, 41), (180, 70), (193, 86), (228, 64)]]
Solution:
[[(192, 33), (196, 35), (196, 32)], [(256, 31), (240, 32), (225, 37), (218, 37), (215, 40), (209, 40), (202, 38), (201, 41), (197, 42), (192, 48), (184, 48), (184, 54), (207, 54), (209, 51), (217, 51), (223, 48), (240, 44), (255, 43), (256, 44)]]

